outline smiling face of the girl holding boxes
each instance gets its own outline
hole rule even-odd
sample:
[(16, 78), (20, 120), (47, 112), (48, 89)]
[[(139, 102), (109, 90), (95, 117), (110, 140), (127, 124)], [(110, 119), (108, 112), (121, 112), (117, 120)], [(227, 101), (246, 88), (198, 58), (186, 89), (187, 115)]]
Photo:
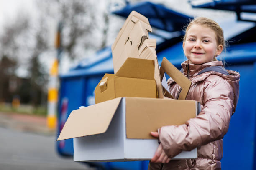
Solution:
[(218, 45), (214, 30), (198, 24), (193, 24), (186, 32), (183, 50), (192, 64), (203, 64), (214, 60), (220, 55), (223, 45)]

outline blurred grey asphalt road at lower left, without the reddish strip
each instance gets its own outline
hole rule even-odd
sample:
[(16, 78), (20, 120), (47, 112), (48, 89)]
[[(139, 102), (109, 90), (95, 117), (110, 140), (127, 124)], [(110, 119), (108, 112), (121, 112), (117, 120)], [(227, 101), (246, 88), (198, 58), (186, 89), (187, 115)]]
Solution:
[(82, 163), (57, 155), (55, 136), (0, 127), (0, 170), (89, 170)]

